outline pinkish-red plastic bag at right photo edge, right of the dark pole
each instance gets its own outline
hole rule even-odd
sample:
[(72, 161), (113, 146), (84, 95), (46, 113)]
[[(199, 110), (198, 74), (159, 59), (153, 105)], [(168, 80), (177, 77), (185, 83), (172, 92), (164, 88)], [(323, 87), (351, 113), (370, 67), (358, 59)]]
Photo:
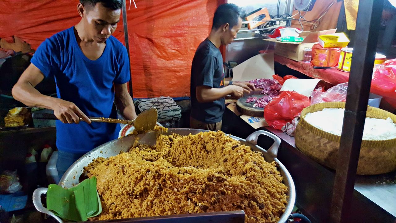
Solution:
[(371, 89), (380, 92), (396, 92), (396, 59), (387, 60), (376, 67)]

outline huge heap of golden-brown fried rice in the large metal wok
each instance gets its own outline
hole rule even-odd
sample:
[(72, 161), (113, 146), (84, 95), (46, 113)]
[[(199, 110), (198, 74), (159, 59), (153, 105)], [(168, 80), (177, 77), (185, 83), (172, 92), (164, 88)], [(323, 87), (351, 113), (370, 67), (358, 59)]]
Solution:
[(221, 131), (160, 135), (84, 167), (103, 207), (90, 220), (244, 210), (248, 223), (275, 223), (287, 204), (277, 167)]

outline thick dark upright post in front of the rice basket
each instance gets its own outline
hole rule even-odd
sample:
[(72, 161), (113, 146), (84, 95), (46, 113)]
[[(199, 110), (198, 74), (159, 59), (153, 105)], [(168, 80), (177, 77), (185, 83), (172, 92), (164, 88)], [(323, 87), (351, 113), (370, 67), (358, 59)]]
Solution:
[(383, 0), (360, 0), (331, 202), (331, 222), (349, 222)]

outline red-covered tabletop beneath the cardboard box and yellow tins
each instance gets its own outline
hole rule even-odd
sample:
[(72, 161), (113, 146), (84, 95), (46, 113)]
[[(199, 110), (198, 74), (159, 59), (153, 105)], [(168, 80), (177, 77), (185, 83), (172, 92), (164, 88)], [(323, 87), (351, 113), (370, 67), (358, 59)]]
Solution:
[[(290, 60), (286, 57), (274, 55), (274, 61), (282, 65), (286, 65), (290, 69), (299, 71), (315, 79), (322, 79), (327, 83), (338, 85), (340, 83), (348, 82), (349, 72), (340, 71), (338, 69), (314, 69), (310, 63), (304, 63), (302, 61)], [(381, 92), (377, 90), (371, 90), (372, 93), (383, 96), (381, 107), (391, 112), (394, 112), (396, 108), (396, 97), (394, 97), (394, 92)]]

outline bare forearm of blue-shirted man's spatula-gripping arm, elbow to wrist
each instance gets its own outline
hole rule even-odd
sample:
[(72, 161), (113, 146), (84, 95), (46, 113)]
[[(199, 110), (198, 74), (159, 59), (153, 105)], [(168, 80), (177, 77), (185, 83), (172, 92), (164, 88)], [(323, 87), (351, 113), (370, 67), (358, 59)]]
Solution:
[(47, 108), (53, 110), (57, 98), (41, 94), (29, 82), (18, 82), (12, 88), (12, 96), (29, 107)]

